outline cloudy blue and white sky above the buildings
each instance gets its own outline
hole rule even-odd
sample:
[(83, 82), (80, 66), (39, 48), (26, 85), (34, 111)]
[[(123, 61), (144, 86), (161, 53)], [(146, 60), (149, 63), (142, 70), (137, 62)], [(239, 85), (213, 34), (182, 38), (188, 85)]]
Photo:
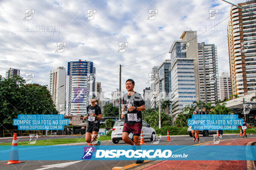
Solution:
[[(113, 91), (119, 88), (120, 64), (168, 52), (184, 30), (201, 34), (227, 18), (231, 5), (221, 0), (3, 0), (0, 8), (0, 75), (18, 68), (22, 77), (34, 73), (35, 83), (47, 85), (49, 71), (82, 59), (93, 61), (102, 91)], [(28, 9), (32, 15), (25, 15)], [(155, 18), (149, 17), (151, 9), (157, 12)], [(218, 10), (215, 20), (207, 20), (211, 9)], [(96, 14), (87, 18), (87, 10)], [(217, 45), (219, 73), (229, 72), (229, 20), (198, 36), (198, 42)], [(57, 42), (66, 43), (63, 52), (56, 52)], [(119, 42), (128, 43), (125, 52), (117, 53)], [(128, 78), (135, 80), (135, 91), (149, 87), (148, 74), (165, 59), (170, 59), (168, 53), (123, 67), (122, 89)]]

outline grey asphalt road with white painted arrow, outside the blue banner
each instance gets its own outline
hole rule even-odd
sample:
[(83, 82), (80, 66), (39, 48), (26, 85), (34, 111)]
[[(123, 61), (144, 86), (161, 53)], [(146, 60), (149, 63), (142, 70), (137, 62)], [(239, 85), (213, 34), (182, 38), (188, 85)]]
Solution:
[[(64, 136), (62, 136), (63, 138)], [(72, 136), (74, 137), (74, 136)], [(77, 136), (76, 136), (77, 137)], [(83, 136), (81, 136), (83, 137)], [(256, 137), (256, 135), (248, 135), (248, 138)], [(240, 139), (239, 135), (223, 135), (223, 139)], [(200, 143), (212, 142), (213, 136), (203, 137), (200, 136)], [(29, 139), (26, 139), (29, 141)], [(166, 136), (160, 139), (158, 145), (193, 145), (192, 138), (189, 136), (171, 136), (171, 142), (166, 142)], [(241, 140), (241, 139), (240, 139)], [(255, 139), (256, 140), (256, 139)], [(145, 139), (146, 145), (151, 145), (149, 139)], [(221, 144), (221, 142), (220, 142)], [(125, 145), (124, 142), (119, 144), (113, 144), (111, 141), (102, 142), (102, 145)], [(151, 161), (143, 163), (148, 164)], [(0, 161), (0, 170), (111, 170), (113, 167), (124, 167), (129, 164), (135, 163), (135, 161), (25, 161), (19, 164), (3, 165), (7, 161)], [(141, 166), (141, 165), (139, 165)], [(133, 169), (131, 167), (130, 169)]]

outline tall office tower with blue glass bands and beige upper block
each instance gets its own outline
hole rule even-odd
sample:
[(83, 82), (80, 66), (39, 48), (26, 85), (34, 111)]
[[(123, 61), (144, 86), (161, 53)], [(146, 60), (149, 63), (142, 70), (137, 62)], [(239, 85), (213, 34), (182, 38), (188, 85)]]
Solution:
[(199, 100), (198, 45), (196, 31), (184, 31), (170, 49), (172, 77), (172, 116)]

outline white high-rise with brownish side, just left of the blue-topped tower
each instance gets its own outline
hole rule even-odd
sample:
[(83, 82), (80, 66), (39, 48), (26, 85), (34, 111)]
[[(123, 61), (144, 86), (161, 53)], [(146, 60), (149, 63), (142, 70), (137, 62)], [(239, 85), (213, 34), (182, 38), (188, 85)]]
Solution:
[(48, 90), (52, 95), (52, 101), (60, 114), (66, 111), (66, 68), (58, 67), (50, 71)]

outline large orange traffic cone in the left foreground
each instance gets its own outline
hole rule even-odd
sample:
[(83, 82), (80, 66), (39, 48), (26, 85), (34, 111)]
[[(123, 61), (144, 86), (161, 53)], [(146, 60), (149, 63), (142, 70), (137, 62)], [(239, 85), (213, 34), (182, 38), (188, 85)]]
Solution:
[(10, 153), (9, 161), (7, 162), (7, 164), (17, 164), (21, 162), (24, 162), (24, 161), (19, 161), (17, 134), (14, 133), (13, 139), (12, 139), (11, 153)]

